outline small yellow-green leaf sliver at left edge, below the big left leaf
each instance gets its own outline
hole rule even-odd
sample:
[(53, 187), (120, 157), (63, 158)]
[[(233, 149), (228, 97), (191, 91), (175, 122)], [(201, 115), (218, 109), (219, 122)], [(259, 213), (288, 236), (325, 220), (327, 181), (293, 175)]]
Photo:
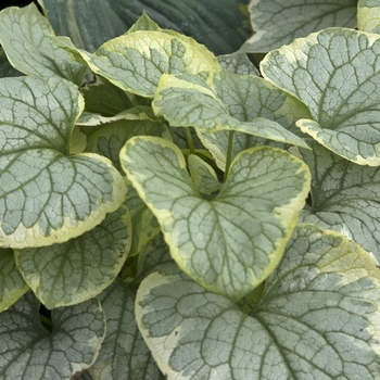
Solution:
[(0, 313), (13, 305), (28, 289), (14, 262), (13, 251), (0, 249)]

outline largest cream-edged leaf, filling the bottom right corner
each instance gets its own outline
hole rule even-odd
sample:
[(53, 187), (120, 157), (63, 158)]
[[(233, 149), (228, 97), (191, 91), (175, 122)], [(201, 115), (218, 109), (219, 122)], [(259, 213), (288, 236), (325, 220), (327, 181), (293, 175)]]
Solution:
[(378, 379), (380, 271), (355, 242), (294, 230), (248, 315), (177, 268), (147, 277), (139, 329), (173, 379)]

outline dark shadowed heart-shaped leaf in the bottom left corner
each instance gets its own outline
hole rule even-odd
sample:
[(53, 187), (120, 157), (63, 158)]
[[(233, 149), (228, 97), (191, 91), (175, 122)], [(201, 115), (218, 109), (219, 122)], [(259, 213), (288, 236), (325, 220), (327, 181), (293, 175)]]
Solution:
[(0, 314), (0, 377), (69, 380), (96, 360), (105, 335), (98, 300), (52, 311), (49, 334), (31, 292)]

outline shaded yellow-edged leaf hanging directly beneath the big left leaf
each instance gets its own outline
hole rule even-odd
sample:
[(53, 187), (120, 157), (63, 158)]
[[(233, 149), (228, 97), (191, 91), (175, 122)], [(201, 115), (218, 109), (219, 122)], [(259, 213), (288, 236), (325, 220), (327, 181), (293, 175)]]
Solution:
[(62, 244), (15, 251), (26, 283), (51, 309), (93, 297), (117, 276), (130, 248), (125, 207), (92, 230)]

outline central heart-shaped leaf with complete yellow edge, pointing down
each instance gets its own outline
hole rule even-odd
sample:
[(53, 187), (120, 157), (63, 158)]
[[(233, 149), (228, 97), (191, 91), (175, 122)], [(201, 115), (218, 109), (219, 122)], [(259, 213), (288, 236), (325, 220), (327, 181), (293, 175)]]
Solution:
[(182, 153), (166, 140), (132, 138), (121, 161), (159, 219), (177, 264), (207, 289), (235, 300), (278, 264), (309, 188), (306, 165), (268, 147), (240, 153), (212, 201), (202, 198)]

